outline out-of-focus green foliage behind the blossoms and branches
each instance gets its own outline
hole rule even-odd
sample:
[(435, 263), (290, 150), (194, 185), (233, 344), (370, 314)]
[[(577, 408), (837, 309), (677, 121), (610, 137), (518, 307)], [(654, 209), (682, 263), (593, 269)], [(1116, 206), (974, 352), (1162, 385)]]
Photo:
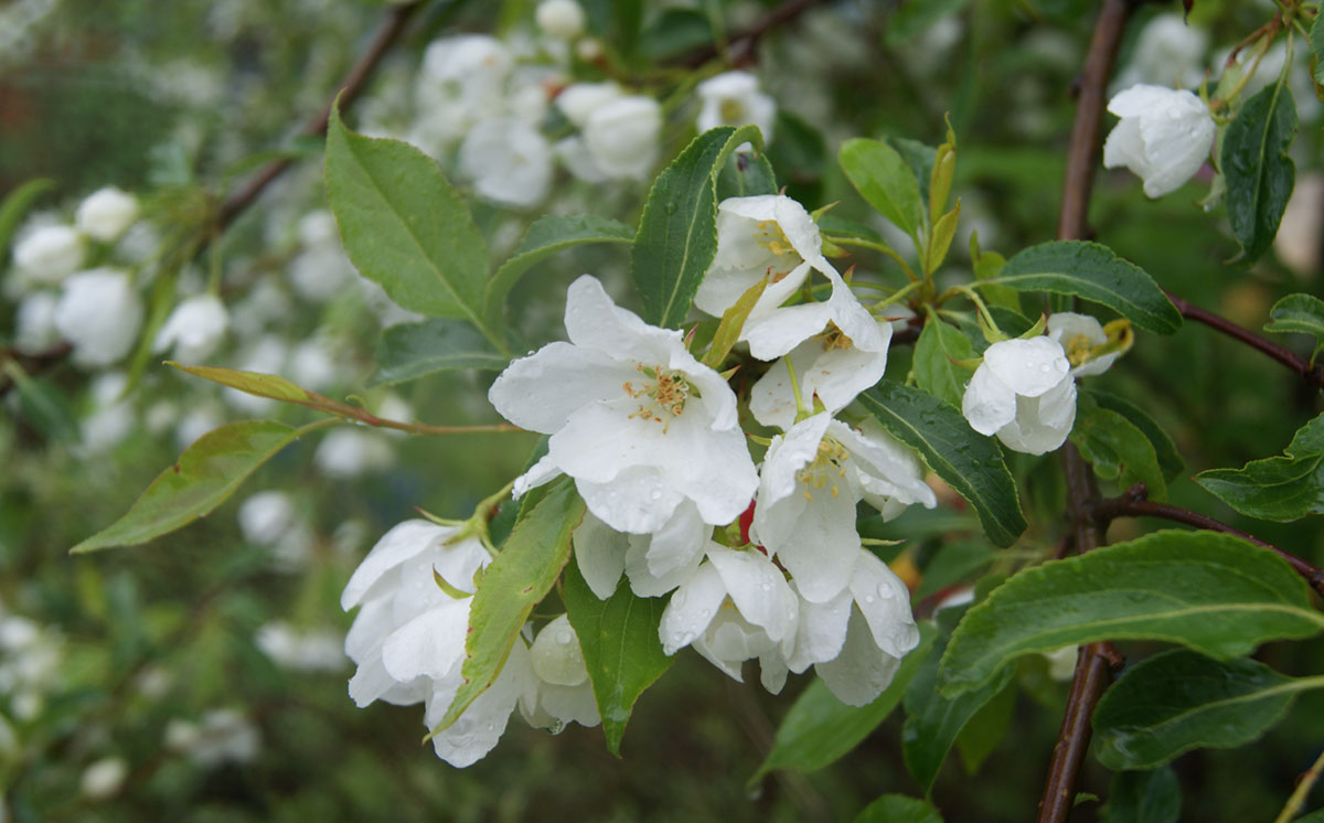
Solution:
[[(534, 5), (426, 4), (351, 122), (369, 114), (389, 120), (400, 110), (408, 97), (400, 89), (432, 38), (455, 32), (527, 36)], [(677, 66), (688, 56), (723, 30), (741, 30), (776, 3), (649, 4), (641, 28), (624, 33), (612, 3), (584, 5), (591, 30), (620, 49), (622, 79), (665, 97), (686, 82)], [(863, 135), (935, 144), (949, 112), (965, 226), (951, 265), (964, 265), (970, 228), (985, 249), (1004, 254), (1051, 238), (1072, 81), (1095, 4), (896, 5), (821, 3), (760, 40), (753, 69), (780, 106), (769, 146), (779, 183), (810, 209), (841, 201), (834, 214), (865, 221), (867, 209), (835, 163), (841, 140)], [(19, 25), (23, 9), (32, 20)], [(1178, 12), (1178, 3), (1145, 5), (1119, 65), (1141, 58), (1137, 32), (1148, 19)], [(320, 144), (291, 135), (324, 105), (385, 13), (383, 4), (367, 0), (13, 0), (0, 7), (0, 15), (11, 16), (9, 41), (0, 48), (0, 193), (50, 177), (56, 188), (40, 206), (58, 209), (115, 184), (139, 193), (162, 225), (184, 225), (196, 222), (199, 202), (224, 196), (279, 151), (295, 157), (295, 168), (200, 266), (224, 266), (228, 300), (242, 300), (262, 282), (281, 284), (298, 251), (291, 239), (298, 217), (324, 206)], [(1213, 54), (1217, 44), (1238, 41), (1270, 13), (1268, 4), (1197, 0), (1190, 25), (1207, 33)], [(715, 61), (702, 70), (719, 67)], [(580, 70), (593, 78), (591, 66)], [(1300, 183), (1319, 173), (1321, 136), (1319, 105), (1298, 103)], [(671, 111), (665, 156), (692, 135), (692, 115), (683, 99)], [(1164, 287), (1251, 328), (1284, 294), (1324, 292), (1317, 185), (1311, 188), (1316, 202), (1304, 249), (1292, 259), (1279, 250), (1246, 267), (1225, 263), (1237, 250), (1225, 217), (1194, 205), (1207, 183), (1197, 177), (1173, 196), (1149, 201), (1128, 173), (1100, 173), (1091, 210), (1098, 239)], [(556, 210), (625, 222), (637, 220), (646, 193), (642, 187), (596, 192), (572, 180), (559, 180), (553, 191)], [(536, 216), (482, 202), (474, 213), (498, 261)], [(851, 262), (859, 266), (857, 277), (902, 282), (880, 255), (863, 251)], [(553, 257), (523, 282), (512, 323), (531, 344), (553, 339), (565, 284), (592, 271), (624, 295), (626, 266), (621, 249)], [(0, 340), (12, 332), (9, 323), (8, 314), (0, 315)], [(384, 389), (369, 388), (379, 324), (357, 291), (291, 304), (273, 325), (290, 341), (330, 329), (338, 340), (330, 381), (336, 396), (361, 396), (369, 408), (381, 401)], [(237, 352), (246, 341), (242, 331), (233, 336)], [(892, 357), (890, 370), (907, 368), (902, 347)], [(395, 390), (421, 421), (486, 422), (494, 419), (483, 401), (487, 381), (490, 376), (446, 373)], [(75, 558), (68, 548), (118, 517), (179, 454), (183, 443), (172, 430), (150, 425), (152, 408), (169, 404), (171, 419), (197, 409), (216, 422), (245, 414), (228, 408), (213, 386), (154, 364), (136, 390), (140, 425), (109, 449), (90, 450), (79, 437), (79, 421), (94, 406), (87, 376), (61, 365), (34, 382), (11, 396), (0, 414), (0, 603), (7, 621), (0, 667), (17, 666), (34, 647), (53, 655), (49, 671), (36, 672), (34, 699), (0, 689), (0, 786), (15, 820), (833, 820), (884, 791), (915, 793), (902, 765), (899, 717), (829, 769), (779, 773), (760, 790), (748, 790), (745, 781), (805, 679), (793, 679), (773, 697), (726, 680), (688, 652), (641, 700), (624, 759), (606, 753), (598, 729), (571, 726), (553, 738), (515, 721), (485, 761), (454, 770), (418, 745), (416, 712), (380, 703), (354, 708), (344, 693), (347, 660), (291, 670), (278, 666), (256, 636), (274, 622), (294, 631), (343, 632), (348, 617), (339, 609), (339, 591), (376, 537), (414, 507), (466, 516), (519, 470), (532, 435), (388, 438), (389, 460), (352, 476), (320, 470), (316, 443), (301, 442), (261, 468), (237, 500), (188, 529)], [(1316, 520), (1249, 521), (1186, 479), (1278, 454), (1319, 412), (1317, 394), (1295, 376), (1210, 329), (1188, 325), (1173, 337), (1141, 335), (1099, 385), (1143, 405), (1176, 439), (1186, 472), (1170, 486), (1174, 504), (1324, 560)], [(298, 408), (270, 413), (311, 419)], [(1022, 542), (1045, 550), (1061, 529), (1057, 460), (1023, 458), (1014, 468), (1033, 524)], [(245, 540), (236, 524), (242, 499), (260, 490), (291, 495), (305, 549), (293, 561)], [(937, 515), (943, 517), (911, 512), (879, 536), (912, 537), (910, 550), (925, 570), (964, 562), (959, 572), (965, 580), (990, 566), (1012, 570), (993, 561), (968, 520), (953, 519), (949, 509)], [(1111, 537), (1155, 525), (1119, 521)], [(963, 552), (964, 561), (957, 557)], [(1317, 673), (1321, 651), (1320, 642), (1271, 646), (1260, 659), (1280, 671)], [(1004, 701), (1005, 718), (988, 733), (992, 757), (974, 774), (959, 757), (949, 758), (935, 789), (948, 820), (992, 823), (1031, 814), (1066, 684), (1045, 677), (1042, 666), (1022, 675), (1023, 684), (1038, 688)], [(20, 705), (24, 700), (29, 705)], [(187, 728), (180, 722), (192, 724), (195, 733), (208, 722), (224, 726), (218, 709), (240, 717), (240, 737), (249, 734), (252, 742), (256, 736), (256, 744), (237, 742), (209, 759), (181, 742)], [(233, 742), (232, 732), (217, 736)], [(1315, 692), (1251, 748), (1180, 758), (1184, 819), (1268, 819), (1320, 740), (1324, 695)], [(110, 797), (97, 797), (86, 790), (86, 770), (106, 758), (123, 761), (127, 777)], [(1107, 782), (1107, 771), (1091, 762), (1082, 790), (1104, 795)], [(1074, 819), (1095, 819), (1096, 808), (1087, 801)]]

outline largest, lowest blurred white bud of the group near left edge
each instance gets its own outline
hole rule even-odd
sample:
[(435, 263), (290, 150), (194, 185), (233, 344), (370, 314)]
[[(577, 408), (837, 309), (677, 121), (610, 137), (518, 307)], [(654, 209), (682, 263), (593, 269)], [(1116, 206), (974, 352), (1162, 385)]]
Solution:
[(143, 302), (115, 269), (93, 269), (65, 281), (56, 307), (56, 327), (73, 344), (73, 361), (105, 367), (128, 353), (143, 324)]

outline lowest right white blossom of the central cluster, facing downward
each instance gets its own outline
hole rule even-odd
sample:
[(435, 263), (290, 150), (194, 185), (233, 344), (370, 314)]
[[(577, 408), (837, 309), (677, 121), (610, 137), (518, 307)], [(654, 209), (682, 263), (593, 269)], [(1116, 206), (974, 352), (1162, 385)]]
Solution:
[(875, 700), (902, 658), (919, 644), (906, 584), (871, 552), (858, 549), (847, 587), (824, 603), (801, 599), (790, 671), (810, 664), (847, 705)]

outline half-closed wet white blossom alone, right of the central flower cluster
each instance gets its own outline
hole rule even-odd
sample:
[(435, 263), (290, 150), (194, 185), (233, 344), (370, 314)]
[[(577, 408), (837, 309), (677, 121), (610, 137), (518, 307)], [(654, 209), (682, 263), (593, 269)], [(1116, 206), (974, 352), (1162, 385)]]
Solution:
[(1059, 447), (1075, 422), (1075, 381), (1062, 344), (1050, 337), (1004, 340), (984, 352), (961, 413), (980, 434), (997, 434), (1013, 451)]

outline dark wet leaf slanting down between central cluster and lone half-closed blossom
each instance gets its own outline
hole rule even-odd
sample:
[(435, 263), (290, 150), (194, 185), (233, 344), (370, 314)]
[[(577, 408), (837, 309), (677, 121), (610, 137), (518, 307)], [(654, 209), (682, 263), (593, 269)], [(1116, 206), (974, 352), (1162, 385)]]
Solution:
[(974, 507), (989, 540), (1000, 546), (1016, 542), (1025, 531), (1025, 515), (993, 439), (970, 429), (955, 406), (899, 382), (884, 380), (861, 394), (859, 402)]

